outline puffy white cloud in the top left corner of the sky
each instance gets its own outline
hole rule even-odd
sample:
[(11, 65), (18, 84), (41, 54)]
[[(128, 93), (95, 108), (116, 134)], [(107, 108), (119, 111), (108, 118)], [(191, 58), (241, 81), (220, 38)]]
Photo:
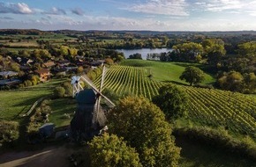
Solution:
[(4, 4), (0, 2), (0, 13), (31, 14), (33, 10), (25, 3)]

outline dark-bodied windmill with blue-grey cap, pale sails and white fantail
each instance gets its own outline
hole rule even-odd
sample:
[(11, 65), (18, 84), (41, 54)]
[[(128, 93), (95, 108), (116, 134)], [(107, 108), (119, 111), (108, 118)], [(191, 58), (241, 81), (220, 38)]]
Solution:
[[(102, 81), (99, 90), (93, 82), (86, 76), (73, 76), (73, 95), (75, 96), (78, 107), (71, 121), (72, 137), (76, 141), (82, 138), (91, 139), (99, 134), (102, 127), (106, 125), (106, 116), (102, 110), (101, 99), (104, 98), (109, 107), (115, 106), (113, 102), (102, 94), (104, 84), (105, 66), (102, 69)], [(83, 89), (79, 82), (84, 81), (91, 88)]]

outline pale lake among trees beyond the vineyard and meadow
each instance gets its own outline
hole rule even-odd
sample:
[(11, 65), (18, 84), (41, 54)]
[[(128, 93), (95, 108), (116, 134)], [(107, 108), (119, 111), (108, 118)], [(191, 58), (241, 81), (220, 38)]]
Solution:
[(171, 51), (171, 48), (140, 48), (140, 49), (117, 49), (118, 52), (123, 52), (125, 58), (129, 58), (131, 54), (141, 54), (143, 60), (147, 60), (147, 54), (160, 54)]

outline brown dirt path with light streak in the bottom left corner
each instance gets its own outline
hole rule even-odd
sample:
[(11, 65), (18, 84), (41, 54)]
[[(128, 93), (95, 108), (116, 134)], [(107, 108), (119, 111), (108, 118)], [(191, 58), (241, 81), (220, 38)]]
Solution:
[(71, 164), (68, 157), (75, 151), (71, 145), (65, 144), (36, 151), (9, 152), (0, 156), (0, 166), (68, 167)]

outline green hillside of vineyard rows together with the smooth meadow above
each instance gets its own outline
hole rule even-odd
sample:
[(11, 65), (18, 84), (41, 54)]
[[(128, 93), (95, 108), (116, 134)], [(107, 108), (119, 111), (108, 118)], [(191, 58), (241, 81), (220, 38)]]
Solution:
[[(189, 121), (203, 126), (224, 127), (231, 134), (249, 134), (255, 139), (256, 98), (231, 91), (187, 86), (178, 79), (184, 65), (186, 64), (125, 61), (122, 65), (110, 67), (105, 76), (103, 89), (109, 89), (118, 95), (132, 94), (152, 98), (158, 94), (157, 90), (163, 84), (180, 84), (179, 87), (189, 98)], [(153, 78), (148, 77), (150, 71)], [(204, 84), (212, 81), (214, 78), (207, 75)], [(100, 78), (94, 83), (99, 85)], [(180, 127), (188, 126), (183, 120), (177, 124)]]

